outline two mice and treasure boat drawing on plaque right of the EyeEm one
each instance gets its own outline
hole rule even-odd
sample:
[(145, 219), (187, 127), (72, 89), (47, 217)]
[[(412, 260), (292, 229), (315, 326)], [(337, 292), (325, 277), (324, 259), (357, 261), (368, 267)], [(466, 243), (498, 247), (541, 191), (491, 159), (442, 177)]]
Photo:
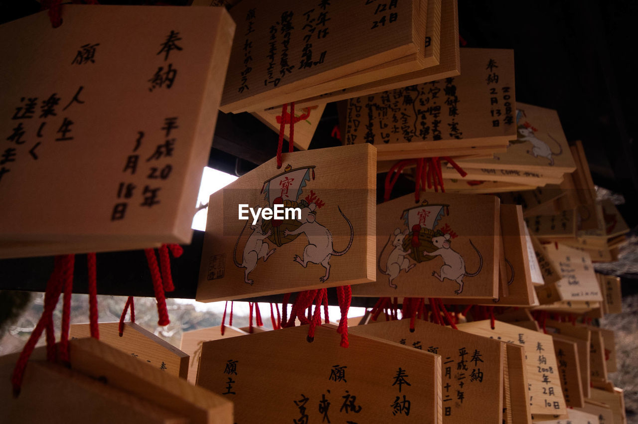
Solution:
[[(454, 291), (457, 295), (463, 291), (464, 277), (475, 277), (479, 275), (483, 267), (483, 257), (479, 249), (469, 240), (470, 245), (479, 255), (479, 268), (476, 272), (469, 273), (465, 269), (463, 256), (452, 248), (452, 239), (457, 234), (452, 231), (449, 224), (443, 228), (436, 228), (443, 216), (449, 216), (449, 205), (443, 203), (427, 203), (424, 200), (421, 205), (408, 208), (401, 214), (404, 221), (404, 228), (396, 228), (394, 233), (383, 246), (378, 257), (378, 268), (382, 274), (388, 276), (388, 284), (392, 288), (397, 288), (395, 280), (398, 278), (400, 284), (401, 271), (410, 272), (419, 263), (443, 260), (443, 265), (438, 272), (432, 271), (432, 276), (441, 282), (445, 280), (454, 281), (459, 284), (459, 288)], [(436, 228), (436, 230), (435, 230)], [(382, 268), (383, 252), (388, 244), (392, 242), (393, 249), (385, 259), (385, 270)], [(412, 260), (414, 263), (410, 263)], [(418, 271), (417, 271), (418, 272)]]

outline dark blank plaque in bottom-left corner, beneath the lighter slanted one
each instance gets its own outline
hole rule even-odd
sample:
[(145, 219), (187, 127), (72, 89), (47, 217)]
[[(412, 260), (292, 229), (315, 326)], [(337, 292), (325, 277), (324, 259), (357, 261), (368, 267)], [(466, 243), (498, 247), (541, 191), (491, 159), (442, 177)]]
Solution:
[[(11, 355), (17, 359), (17, 355)], [(0, 423), (162, 423), (186, 424), (188, 418), (91, 379), (63, 365), (30, 361), (20, 396), (11, 395), (15, 359), (0, 367)]]

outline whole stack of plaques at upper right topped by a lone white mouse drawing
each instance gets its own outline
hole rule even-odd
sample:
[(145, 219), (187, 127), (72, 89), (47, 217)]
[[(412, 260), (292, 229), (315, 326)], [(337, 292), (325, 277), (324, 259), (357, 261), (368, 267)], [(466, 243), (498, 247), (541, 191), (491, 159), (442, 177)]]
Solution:
[[(487, 159), (456, 160), (468, 173), (466, 180), (526, 184), (530, 188), (561, 184), (563, 175), (576, 170), (572, 152), (555, 110), (517, 103), (516, 137), (507, 151)], [(451, 166), (443, 177), (452, 178)]]

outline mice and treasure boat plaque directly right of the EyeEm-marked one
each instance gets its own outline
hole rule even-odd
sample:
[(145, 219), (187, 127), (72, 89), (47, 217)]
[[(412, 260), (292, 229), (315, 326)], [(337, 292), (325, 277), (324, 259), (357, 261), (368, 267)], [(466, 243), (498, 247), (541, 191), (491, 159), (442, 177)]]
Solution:
[(496, 196), (413, 194), (376, 207), (376, 281), (353, 296), (498, 297)]

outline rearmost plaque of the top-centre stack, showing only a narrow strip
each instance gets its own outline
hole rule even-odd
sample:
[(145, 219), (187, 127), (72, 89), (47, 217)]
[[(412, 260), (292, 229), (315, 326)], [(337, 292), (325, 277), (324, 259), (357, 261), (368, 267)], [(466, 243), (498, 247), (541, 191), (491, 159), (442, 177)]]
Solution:
[[(429, 2), (428, 2), (429, 7)], [(430, 16), (428, 15), (428, 21)], [(426, 43), (429, 36), (426, 26)], [(300, 107), (327, 103), (330, 101), (346, 100), (359, 96), (367, 96), (385, 90), (392, 90), (406, 85), (422, 84), (441, 78), (456, 77), (460, 73), (461, 61), (459, 59), (459, 20), (456, 0), (441, 0), (441, 31), (440, 31), (440, 55), (439, 64), (429, 68), (419, 69), (397, 75), (396, 77), (380, 78), (366, 84), (358, 84), (346, 89), (326, 92), (312, 98), (295, 102)], [(434, 43), (434, 40), (433, 40)], [(427, 51), (426, 47), (426, 51)]]

